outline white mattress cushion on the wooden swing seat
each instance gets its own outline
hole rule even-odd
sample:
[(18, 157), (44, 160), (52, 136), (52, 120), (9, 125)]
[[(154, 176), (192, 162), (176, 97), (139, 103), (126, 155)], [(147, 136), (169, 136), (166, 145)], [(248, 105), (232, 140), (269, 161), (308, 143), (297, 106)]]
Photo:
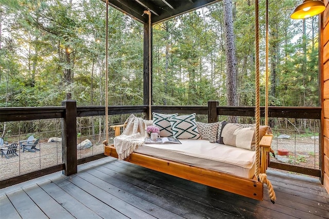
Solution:
[(135, 152), (246, 178), (254, 175), (254, 151), (210, 143), (208, 140), (180, 142), (182, 144), (142, 145)]

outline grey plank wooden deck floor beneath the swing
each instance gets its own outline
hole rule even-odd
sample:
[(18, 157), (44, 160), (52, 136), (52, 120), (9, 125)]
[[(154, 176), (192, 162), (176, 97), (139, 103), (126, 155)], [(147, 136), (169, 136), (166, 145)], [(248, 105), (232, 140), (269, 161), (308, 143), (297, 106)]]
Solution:
[(314, 178), (269, 171), (277, 202), (262, 202), (112, 157), (0, 190), (0, 218), (329, 218)]

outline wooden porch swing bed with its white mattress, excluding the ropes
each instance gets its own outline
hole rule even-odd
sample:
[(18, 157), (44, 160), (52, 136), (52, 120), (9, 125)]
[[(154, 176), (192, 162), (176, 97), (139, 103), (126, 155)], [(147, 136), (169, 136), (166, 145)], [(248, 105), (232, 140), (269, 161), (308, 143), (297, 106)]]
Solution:
[[(116, 135), (124, 125), (111, 126)], [(265, 173), (272, 135), (265, 134), (260, 142), (261, 162), (255, 151), (210, 143), (208, 140), (180, 139), (182, 144), (142, 144), (124, 161), (189, 181), (263, 200), (263, 183), (255, 176), (259, 165)], [(107, 156), (118, 158), (114, 145), (104, 147)]]

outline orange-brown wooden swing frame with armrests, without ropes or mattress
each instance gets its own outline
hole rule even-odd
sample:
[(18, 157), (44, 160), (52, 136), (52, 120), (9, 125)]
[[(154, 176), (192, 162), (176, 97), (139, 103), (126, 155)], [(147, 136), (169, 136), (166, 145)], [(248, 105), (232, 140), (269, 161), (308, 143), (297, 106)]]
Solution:
[[(117, 136), (120, 134), (121, 127), (124, 126), (125, 125), (111, 126), (111, 128), (115, 130)], [(260, 142), (262, 160), (260, 162), (261, 165), (259, 168), (261, 173), (265, 173), (267, 169), (268, 152), (270, 149), (271, 141), (272, 135), (266, 134), (262, 137)], [(117, 151), (113, 145), (104, 146), (104, 154), (118, 158)], [(184, 178), (185, 180), (250, 197), (255, 200), (263, 200), (263, 183), (259, 182), (256, 177), (251, 179), (244, 178), (228, 173), (181, 164), (178, 162), (173, 162), (136, 152), (133, 152), (130, 156), (125, 158), (124, 161), (156, 170), (158, 172)]]

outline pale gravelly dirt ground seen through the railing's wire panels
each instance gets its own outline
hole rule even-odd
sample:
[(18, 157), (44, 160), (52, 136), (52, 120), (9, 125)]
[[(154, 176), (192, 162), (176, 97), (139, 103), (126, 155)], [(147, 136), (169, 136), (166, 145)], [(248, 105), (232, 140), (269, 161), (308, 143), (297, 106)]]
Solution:
[[(7, 159), (5, 156), (1, 157), (0, 180), (61, 164), (61, 142), (47, 143), (47, 141), (48, 140), (42, 140), (40, 144), (36, 147), (39, 148), (40, 151), (36, 151), (35, 153), (29, 151), (25, 151), (23, 153), (22, 150), (17, 150), (17, 154), (19, 154), (19, 156), (13, 156), (9, 159)], [(273, 138), (271, 147), (276, 153), (276, 158), (271, 157), (271, 162), (280, 162), (290, 165), (319, 169), (318, 140), (314, 140), (310, 137), (293, 139)], [(278, 149), (288, 150), (289, 155), (277, 156)], [(103, 152), (103, 144), (94, 142), (93, 147), (78, 150), (78, 159), (82, 157), (92, 156), (95, 154), (101, 154)]]

